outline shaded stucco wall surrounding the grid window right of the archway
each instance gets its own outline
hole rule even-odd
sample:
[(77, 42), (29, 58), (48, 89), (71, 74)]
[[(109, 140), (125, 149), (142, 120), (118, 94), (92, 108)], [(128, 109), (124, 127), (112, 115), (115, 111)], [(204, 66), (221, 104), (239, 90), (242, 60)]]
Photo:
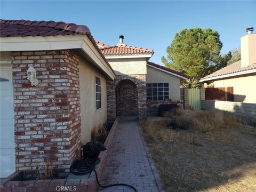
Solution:
[(146, 83), (169, 83), (169, 99), (180, 100), (180, 78), (147, 66)]

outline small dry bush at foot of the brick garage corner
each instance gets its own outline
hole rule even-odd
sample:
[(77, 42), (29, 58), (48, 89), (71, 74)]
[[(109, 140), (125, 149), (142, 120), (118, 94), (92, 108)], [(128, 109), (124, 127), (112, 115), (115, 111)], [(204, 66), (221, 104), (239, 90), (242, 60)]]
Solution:
[(50, 161), (49, 158), (46, 159), (43, 166), (37, 164), (37, 180), (41, 179), (54, 179), (54, 167), (53, 161)]

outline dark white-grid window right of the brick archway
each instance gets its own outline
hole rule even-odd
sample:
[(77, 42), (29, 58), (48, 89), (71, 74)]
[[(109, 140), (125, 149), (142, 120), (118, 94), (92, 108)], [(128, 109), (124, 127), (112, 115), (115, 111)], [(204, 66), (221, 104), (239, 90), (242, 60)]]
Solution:
[(169, 99), (169, 83), (147, 83), (147, 100), (164, 101)]

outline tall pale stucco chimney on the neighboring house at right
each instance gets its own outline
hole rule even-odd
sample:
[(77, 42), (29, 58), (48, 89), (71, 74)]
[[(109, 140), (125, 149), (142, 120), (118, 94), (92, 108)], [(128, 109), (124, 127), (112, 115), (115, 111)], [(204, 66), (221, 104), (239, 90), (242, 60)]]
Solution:
[(241, 38), (241, 67), (256, 63), (256, 34), (253, 34), (253, 27), (247, 28), (246, 32)]

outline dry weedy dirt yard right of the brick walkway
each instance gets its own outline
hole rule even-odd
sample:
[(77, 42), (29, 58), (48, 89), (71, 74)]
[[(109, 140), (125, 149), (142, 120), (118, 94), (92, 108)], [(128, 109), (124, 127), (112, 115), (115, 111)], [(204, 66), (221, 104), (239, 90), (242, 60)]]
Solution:
[(241, 123), (179, 110), (139, 125), (166, 191), (256, 191), (256, 129)]

